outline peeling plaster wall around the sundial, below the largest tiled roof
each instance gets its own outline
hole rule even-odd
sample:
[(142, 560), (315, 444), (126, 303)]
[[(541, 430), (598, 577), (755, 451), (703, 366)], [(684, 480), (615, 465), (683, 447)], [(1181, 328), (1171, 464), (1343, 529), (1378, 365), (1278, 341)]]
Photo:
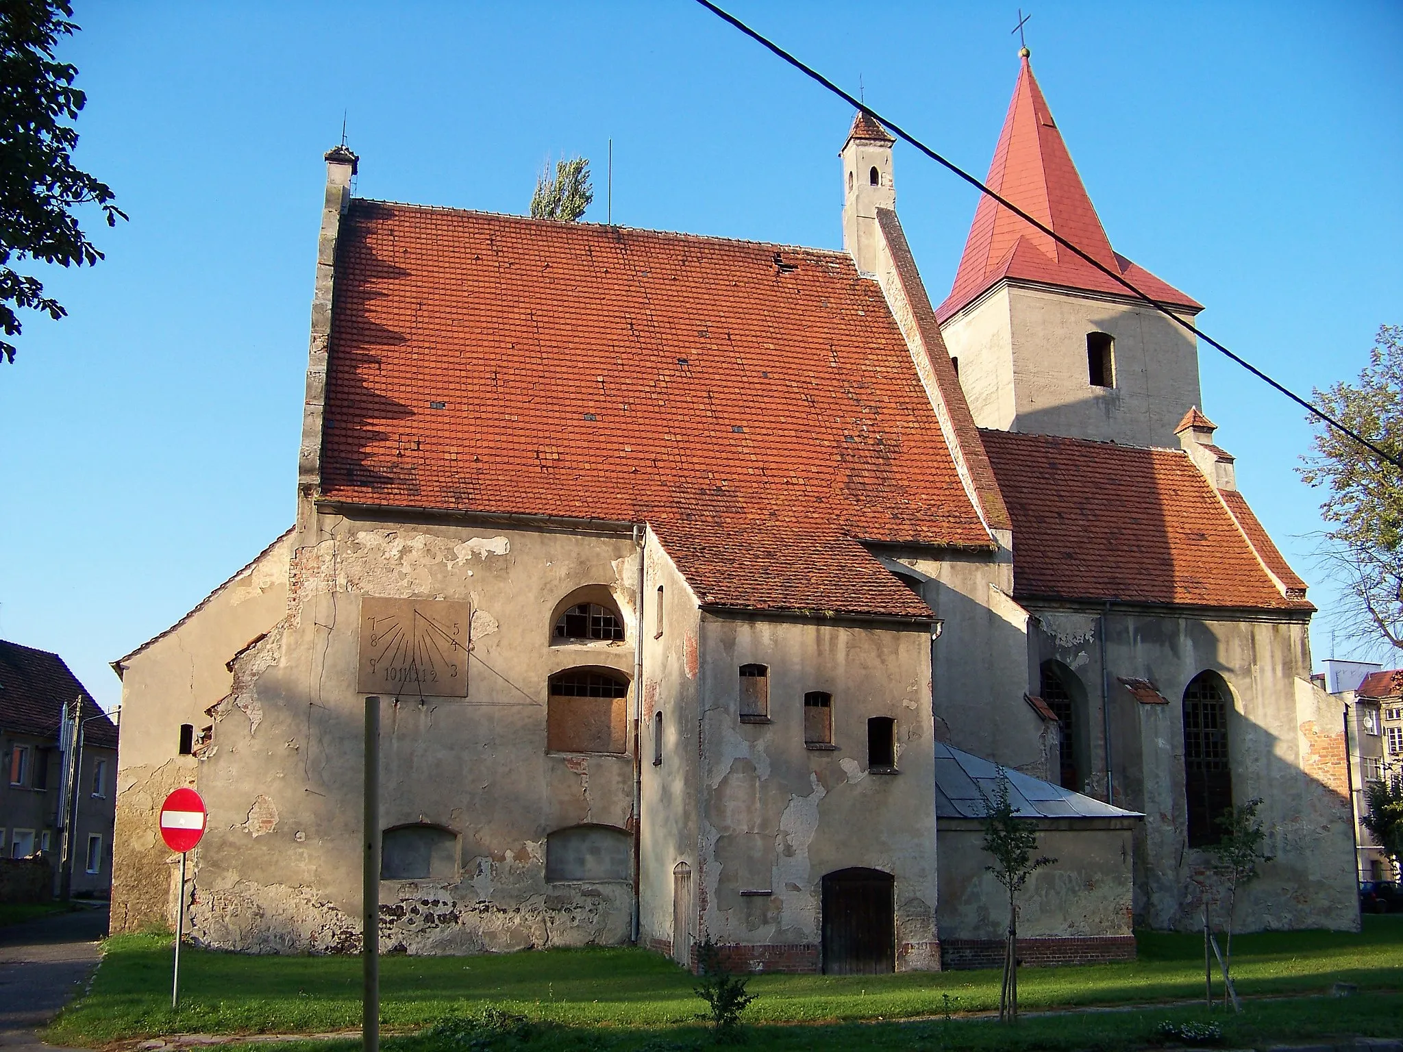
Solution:
[[(432, 823), (457, 843), (452, 877), (382, 881), (382, 948), (627, 941), (627, 881), (546, 881), (550, 832), (633, 822), (630, 756), (546, 750), (546, 682), (579, 665), (633, 677), (631, 537), (323, 515), (299, 540), (288, 617), (239, 658), (202, 760), (210, 829), (192, 937), (257, 952), (358, 948), (359, 600), (383, 596), (467, 602), (473, 630), (466, 699), (382, 700), (382, 828)], [(627, 640), (551, 645), (560, 600), (592, 585), (609, 589)]]

